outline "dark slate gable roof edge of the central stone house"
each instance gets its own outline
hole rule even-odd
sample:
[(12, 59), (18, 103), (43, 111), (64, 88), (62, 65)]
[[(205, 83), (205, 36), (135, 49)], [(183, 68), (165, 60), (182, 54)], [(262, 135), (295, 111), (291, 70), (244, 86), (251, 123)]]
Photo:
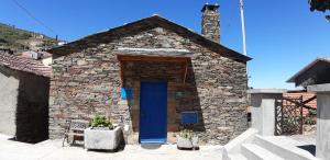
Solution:
[[(169, 30), (172, 32), (177, 33), (178, 35), (183, 37), (187, 37), (195, 43), (205, 46), (209, 48), (210, 50), (221, 54), (222, 56), (232, 57), (240, 61), (249, 61), (252, 58), (244, 56), (243, 54), (240, 54), (238, 52), (234, 52), (228, 47), (222, 46), (221, 44), (215, 43), (202, 35), (193, 32), (191, 30), (184, 27), (182, 25), (178, 25), (174, 22), (170, 22), (164, 18), (161, 18), (160, 15), (153, 15), (146, 19), (142, 19), (132, 23), (124, 24), (119, 27), (110, 28), (105, 32), (96, 33), (92, 35), (88, 35), (86, 37), (82, 37), (80, 39), (70, 42), (68, 44), (65, 44), (63, 46), (58, 46), (55, 48), (51, 48), (47, 52), (55, 55), (68, 55), (74, 52), (78, 52), (80, 49), (90, 47), (90, 42), (94, 43), (109, 43), (114, 38), (119, 38), (121, 36), (132, 35), (136, 34), (142, 31), (147, 31), (155, 27), (164, 27), (166, 30)], [(106, 38), (107, 37), (107, 38)], [(111, 38), (109, 38), (111, 37)]]

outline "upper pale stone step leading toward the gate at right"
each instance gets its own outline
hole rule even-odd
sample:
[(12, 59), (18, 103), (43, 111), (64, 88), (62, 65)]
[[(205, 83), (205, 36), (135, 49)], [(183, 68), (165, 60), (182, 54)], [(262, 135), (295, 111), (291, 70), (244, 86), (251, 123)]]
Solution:
[(255, 135), (253, 142), (286, 160), (318, 160), (308, 151), (290, 145), (293, 142), (287, 141), (290, 140), (284, 140), (275, 136), (263, 137)]

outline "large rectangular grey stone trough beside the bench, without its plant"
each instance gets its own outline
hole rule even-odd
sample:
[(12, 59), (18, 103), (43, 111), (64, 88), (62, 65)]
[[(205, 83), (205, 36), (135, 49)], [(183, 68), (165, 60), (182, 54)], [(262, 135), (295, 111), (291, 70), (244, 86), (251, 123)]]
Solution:
[(86, 149), (116, 150), (123, 140), (120, 127), (111, 130), (89, 127), (85, 129), (84, 136)]

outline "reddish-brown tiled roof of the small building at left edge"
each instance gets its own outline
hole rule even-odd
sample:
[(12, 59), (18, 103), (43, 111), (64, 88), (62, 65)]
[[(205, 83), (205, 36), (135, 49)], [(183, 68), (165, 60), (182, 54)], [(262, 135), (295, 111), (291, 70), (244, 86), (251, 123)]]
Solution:
[(0, 66), (24, 72), (34, 73), (43, 77), (51, 77), (52, 69), (42, 64), (42, 61), (18, 57), (0, 52)]

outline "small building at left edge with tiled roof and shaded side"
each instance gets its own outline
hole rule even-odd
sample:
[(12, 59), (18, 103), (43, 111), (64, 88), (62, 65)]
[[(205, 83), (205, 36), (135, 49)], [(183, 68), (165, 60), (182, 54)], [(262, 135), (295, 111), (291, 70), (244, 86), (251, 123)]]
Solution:
[(48, 138), (51, 68), (0, 53), (0, 134), (24, 142)]

